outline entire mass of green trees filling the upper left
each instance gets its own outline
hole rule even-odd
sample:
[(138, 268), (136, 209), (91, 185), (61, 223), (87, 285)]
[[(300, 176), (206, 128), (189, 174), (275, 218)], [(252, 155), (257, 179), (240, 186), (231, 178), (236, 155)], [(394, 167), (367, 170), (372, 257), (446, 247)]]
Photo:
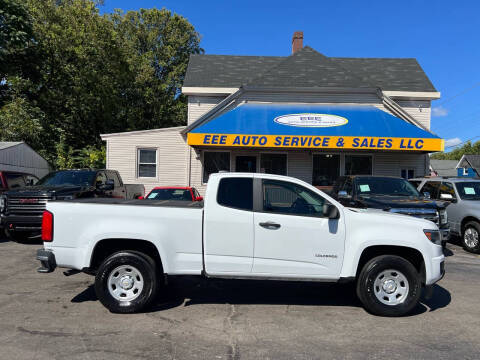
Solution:
[(185, 123), (180, 88), (202, 51), (185, 18), (102, 16), (92, 0), (4, 2), (0, 51), (21, 56), (0, 74), (0, 140), (24, 140), (59, 168), (89, 167), (104, 162), (102, 133)]

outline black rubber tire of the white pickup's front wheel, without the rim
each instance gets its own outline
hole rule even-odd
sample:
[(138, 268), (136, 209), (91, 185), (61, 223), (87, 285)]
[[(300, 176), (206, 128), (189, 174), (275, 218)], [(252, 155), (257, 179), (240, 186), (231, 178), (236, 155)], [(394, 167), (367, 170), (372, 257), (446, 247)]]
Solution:
[[(405, 291), (406, 297), (399, 304), (384, 304), (375, 294), (375, 280), (387, 270), (393, 270), (393, 273), (398, 271), (408, 282), (408, 291)], [(401, 283), (405, 286), (403, 281)], [(365, 309), (374, 315), (406, 315), (418, 304), (421, 293), (422, 282), (420, 274), (408, 260), (400, 256), (382, 255), (371, 259), (365, 264), (357, 279), (357, 296)]]

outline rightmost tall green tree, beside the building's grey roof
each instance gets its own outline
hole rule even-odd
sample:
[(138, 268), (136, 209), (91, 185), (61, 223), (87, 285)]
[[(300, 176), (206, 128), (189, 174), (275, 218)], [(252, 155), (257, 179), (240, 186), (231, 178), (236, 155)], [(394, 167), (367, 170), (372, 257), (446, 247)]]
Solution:
[(181, 86), (190, 55), (203, 51), (193, 25), (166, 9), (117, 11), (110, 18), (129, 48), (129, 64), (135, 74), (125, 99), (130, 129), (185, 124), (186, 99)]

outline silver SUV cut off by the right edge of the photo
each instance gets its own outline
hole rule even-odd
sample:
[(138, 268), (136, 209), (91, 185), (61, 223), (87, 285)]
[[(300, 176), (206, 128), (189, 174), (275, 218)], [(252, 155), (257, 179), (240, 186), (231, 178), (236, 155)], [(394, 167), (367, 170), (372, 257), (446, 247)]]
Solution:
[(410, 182), (433, 200), (450, 202), (448, 222), (461, 236), (465, 250), (480, 253), (480, 180), (472, 178), (417, 178)]

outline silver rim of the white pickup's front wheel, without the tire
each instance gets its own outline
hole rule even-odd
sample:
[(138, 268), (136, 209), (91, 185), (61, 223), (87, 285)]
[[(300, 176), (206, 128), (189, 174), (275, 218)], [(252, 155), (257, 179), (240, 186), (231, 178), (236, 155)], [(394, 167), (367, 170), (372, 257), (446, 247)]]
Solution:
[(375, 279), (373, 290), (381, 303), (398, 305), (408, 296), (408, 281), (398, 270), (384, 270)]

